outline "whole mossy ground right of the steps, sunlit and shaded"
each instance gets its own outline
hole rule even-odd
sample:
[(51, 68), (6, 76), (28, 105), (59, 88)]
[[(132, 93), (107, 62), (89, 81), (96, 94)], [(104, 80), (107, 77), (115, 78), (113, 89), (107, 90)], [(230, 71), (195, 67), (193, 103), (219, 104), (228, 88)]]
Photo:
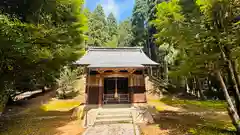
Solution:
[[(161, 100), (149, 99), (158, 114), (154, 116), (155, 123), (142, 125), (143, 135), (235, 135), (235, 128), (227, 114), (216, 114), (214, 111), (226, 111), (223, 101), (199, 101), (186, 99)], [(174, 106), (180, 110), (166, 110)], [(179, 113), (179, 111), (184, 113)], [(213, 113), (201, 113), (213, 111)], [(193, 115), (190, 112), (200, 112)]]

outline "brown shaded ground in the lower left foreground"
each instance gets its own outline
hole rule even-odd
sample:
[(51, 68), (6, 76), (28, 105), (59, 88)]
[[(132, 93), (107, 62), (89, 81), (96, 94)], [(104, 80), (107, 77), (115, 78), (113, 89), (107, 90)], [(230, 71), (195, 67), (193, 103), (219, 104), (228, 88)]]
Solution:
[(41, 109), (26, 110), (24, 114), (2, 117), (0, 119), (0, 132), (2, 135), (54, 135), (60, 133), (57, 128), (71, 122), (72, 111), (45, 112)]

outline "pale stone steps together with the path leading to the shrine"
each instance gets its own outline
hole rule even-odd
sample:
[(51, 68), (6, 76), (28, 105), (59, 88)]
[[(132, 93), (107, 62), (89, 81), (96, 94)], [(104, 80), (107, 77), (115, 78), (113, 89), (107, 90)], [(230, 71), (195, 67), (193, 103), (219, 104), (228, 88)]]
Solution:
[[(92, 116), (89, 116), (92, 118)], [(130, 108), (98, 109), (93, 126), (83, 135), (140, 135)]]

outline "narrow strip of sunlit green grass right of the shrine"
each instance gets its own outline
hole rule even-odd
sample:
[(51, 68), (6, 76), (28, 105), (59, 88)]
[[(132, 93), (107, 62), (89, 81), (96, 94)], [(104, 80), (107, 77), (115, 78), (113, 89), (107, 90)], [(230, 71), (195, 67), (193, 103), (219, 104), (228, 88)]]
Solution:
[[(226, 111), (226, 103), (224, 101), (213, 101), (213, 100), (185, 100), (185, 99), (171, 99), (169, 97), (162, 98), (161, 102), (172, 105), (180, 106), (184, 109), (201, 111), (201, 110), (216, 110), (216, 111)], [(160, 102), (156, 101), (156, 102)]]

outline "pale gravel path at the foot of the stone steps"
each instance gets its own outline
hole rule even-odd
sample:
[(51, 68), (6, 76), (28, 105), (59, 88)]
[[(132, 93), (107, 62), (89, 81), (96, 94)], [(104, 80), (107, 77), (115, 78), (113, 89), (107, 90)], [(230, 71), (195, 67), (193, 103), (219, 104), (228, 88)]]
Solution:
[(139, 135), (139, 128), (133, 124), (109, 124), (89, 127), (83, 135)]

